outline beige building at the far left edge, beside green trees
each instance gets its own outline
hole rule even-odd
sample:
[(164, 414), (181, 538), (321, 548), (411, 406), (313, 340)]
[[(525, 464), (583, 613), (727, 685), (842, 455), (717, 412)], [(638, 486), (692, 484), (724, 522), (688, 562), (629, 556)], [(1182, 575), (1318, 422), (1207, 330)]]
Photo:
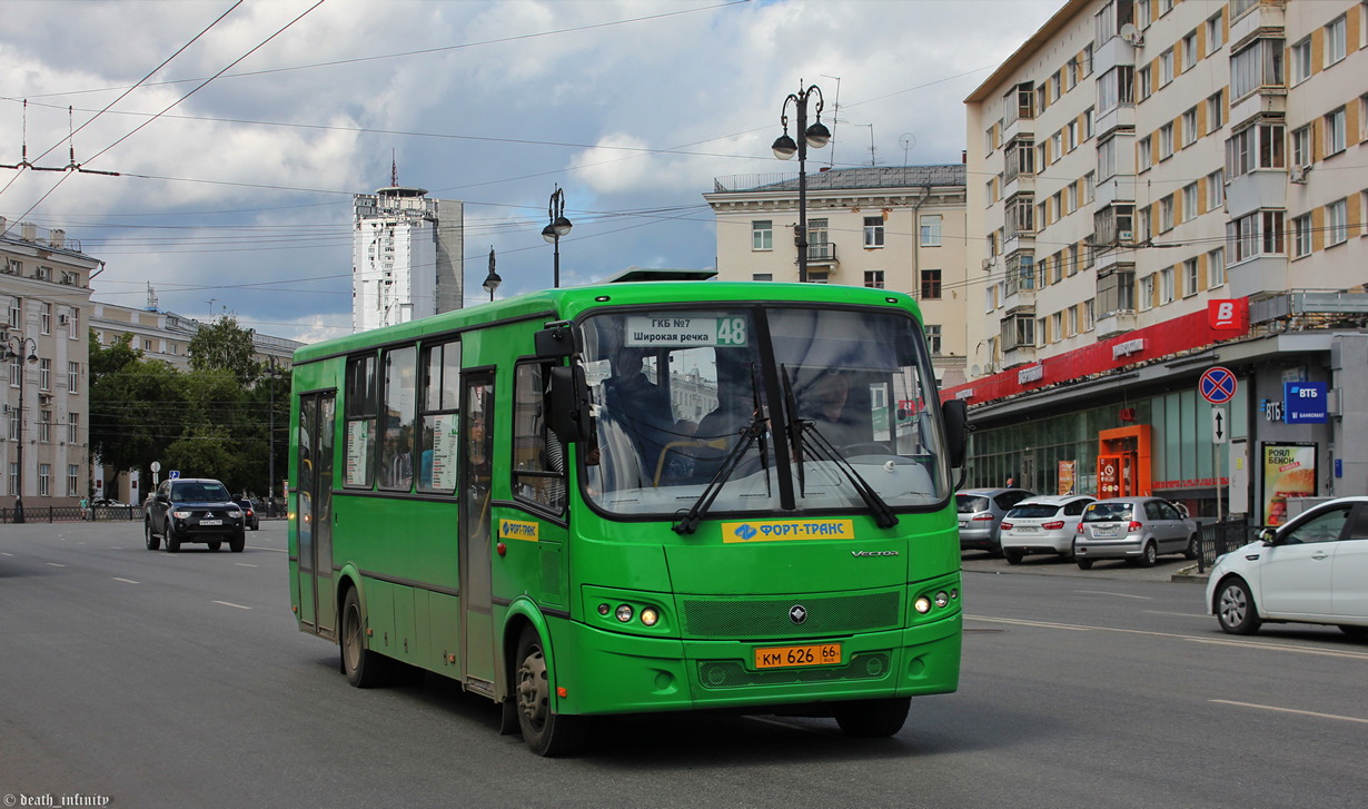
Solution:
[(0, 218), (0, 300), (10, 386), (0, 433), (4, 522), (15, 505), (75, 505), (89, 463), (90, 274), (101, 261), (62, 230)]

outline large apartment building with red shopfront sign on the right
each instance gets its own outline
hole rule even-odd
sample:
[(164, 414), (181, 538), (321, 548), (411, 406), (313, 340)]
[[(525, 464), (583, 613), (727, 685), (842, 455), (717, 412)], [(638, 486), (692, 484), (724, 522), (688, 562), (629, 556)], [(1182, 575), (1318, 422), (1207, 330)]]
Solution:
[(971, 482), (1368, 491), (1368, 4), (1071, 0), (966, 107)]

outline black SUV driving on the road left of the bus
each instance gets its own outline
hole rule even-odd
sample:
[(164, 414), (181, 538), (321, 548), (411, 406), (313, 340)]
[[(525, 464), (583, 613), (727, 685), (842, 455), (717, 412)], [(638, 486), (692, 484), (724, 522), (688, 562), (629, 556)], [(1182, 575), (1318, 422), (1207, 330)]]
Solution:
[(227, 539), (234, 553), (242, 553), (246, 546), (242, 506), (233, 502), (228, 489), (218, 480), (163, 480), (142, 511), (148, 550), (156, 550), (161, 539), (172, 553), (181, 550), (182, 542), (207, 542), (209, 550), (218, 550)]

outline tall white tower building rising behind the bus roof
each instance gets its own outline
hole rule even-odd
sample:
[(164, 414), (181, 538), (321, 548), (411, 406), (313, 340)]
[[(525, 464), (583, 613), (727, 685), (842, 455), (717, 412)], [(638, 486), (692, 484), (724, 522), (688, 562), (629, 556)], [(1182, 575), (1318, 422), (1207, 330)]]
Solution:
[(462, 205), (398, 182), (354, 198), (357, 331), (461, 308)]

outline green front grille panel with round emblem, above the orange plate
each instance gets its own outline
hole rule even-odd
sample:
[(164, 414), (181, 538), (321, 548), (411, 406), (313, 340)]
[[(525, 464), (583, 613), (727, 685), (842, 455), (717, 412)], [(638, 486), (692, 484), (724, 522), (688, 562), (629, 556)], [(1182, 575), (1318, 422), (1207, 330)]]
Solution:
[[(896, 630), (902, 590), (844, 595), (766, 598), (684, 597), (684, 632), (691, 638), (774, 639)], [(795, 613), (802, 620), (795, 620)]]

